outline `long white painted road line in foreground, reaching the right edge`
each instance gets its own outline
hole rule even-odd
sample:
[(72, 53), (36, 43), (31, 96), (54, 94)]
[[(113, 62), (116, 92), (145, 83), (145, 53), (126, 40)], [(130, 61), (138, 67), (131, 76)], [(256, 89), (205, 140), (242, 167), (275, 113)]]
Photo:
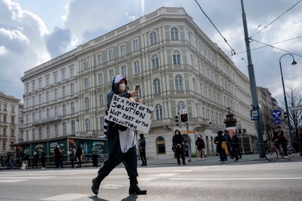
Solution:
[(279, 178), (170, 178), (170, 180), (299, 180), (301, 177), (279, 177)]

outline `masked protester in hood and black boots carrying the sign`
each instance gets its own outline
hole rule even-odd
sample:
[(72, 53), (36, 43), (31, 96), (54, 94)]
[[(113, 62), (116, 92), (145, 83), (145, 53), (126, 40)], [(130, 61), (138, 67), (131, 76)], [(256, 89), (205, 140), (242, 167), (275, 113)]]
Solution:
[[(122, 75), (117, 75), (113, 78), (112, 90), (107, 95), (108, 109), (111, 106), (113, 96), (120, 97), (136, 97), (138, 90), (128, 92), (128, 80)], [(140, 102), (138, 100), (138, 102)], [(106, 111), (106, 113), (108, 110)], [(135, 141), (135, 134), (131, 128), (121, 126), (113, 121), (106, 120), (104, 123), (104, 132), (107, 136), (107, 150), (108, 158), (104, 161), (102, 167), (97, 172), (97, 176), (93, 178), (93, 185), (91, 190), (95, 195), (99, 193), (99, 188), (102, 180), (111, 173), (123, 161), (125, 162), (125, 169), (130, 179), (130, 194), (146, 194), (146, 190), (141, 190), (137, 186), (137, 147)]]

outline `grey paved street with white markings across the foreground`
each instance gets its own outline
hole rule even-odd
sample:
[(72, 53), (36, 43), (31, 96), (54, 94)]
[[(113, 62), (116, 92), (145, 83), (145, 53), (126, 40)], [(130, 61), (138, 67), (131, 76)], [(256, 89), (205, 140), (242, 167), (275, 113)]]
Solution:
[(218, 164), (218, 157), (187, 165), (176, 160), (149, 161), (139, 167), (144, 196), (128, 195), (129, 181), (118, 166), (102, 182), (100, 194), (91, 192), (97, 169), (14, 169), (0, 171), (0, 200), (301, 200), (302, 157), (275, 163), (246, 155), (240, 161)]

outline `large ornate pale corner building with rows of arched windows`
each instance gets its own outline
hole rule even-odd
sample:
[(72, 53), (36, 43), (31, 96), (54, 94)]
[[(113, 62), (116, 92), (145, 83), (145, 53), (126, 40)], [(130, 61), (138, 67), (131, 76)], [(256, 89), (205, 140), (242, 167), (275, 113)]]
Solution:
[[(228, 108), (242, 127), (256, 135), (251, 121), (249, 81), (183, 8), (159, 8), (67, 54), (25, 71), (24, 141), (65, 135), (100, 137), (106, 95), (115, 75), (132, 91), (139, 84), (143, 104), (154, 114), (146, 134), (150, 158), (174, 157), (174, 130), (207, 139), (224, 129)], [(189, 122), (178, 128), (175, 116), (187, 109)]]

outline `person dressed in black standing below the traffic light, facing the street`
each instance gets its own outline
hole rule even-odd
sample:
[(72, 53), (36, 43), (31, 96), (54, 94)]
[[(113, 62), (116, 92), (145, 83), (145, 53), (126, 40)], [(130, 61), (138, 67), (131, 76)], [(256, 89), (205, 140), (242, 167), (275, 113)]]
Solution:
[(185, 140), (183, 139), (183, 135), (179, 130), (175, 130), (175, 134), (172, 138), (172, 144), (172, 147), (175, 150), (178, 165), (181, 165), (181, 160), (183, 161), (183, 165), (185, 165), (185, 153), (183, 151), (185, 147)]

